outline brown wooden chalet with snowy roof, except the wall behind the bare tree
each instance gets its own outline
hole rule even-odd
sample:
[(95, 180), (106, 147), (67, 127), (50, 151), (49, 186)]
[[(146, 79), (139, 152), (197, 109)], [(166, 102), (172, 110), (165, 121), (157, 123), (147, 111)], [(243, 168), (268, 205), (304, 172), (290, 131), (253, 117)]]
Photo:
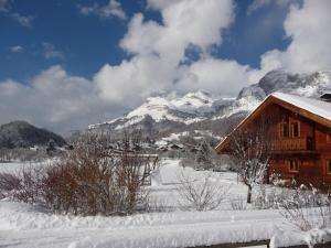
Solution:
[(328, 99), (275, 93), (216, 147), (217, 153), (231, 154), (236, 134), (258, 126), (261, 118), (273, 120), (266, 134), (270, 154), (267, 179), (277, 173), (288, 182), (331, 186), (331, 103)]

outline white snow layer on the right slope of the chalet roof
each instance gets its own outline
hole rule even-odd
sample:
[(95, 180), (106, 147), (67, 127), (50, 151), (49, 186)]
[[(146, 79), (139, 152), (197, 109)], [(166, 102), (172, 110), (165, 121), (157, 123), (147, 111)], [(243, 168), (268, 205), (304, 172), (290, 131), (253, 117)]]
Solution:
[(271, 96), (287, 101), (296, 107), (302, 108), (307, 111), (310, 111), (314, 115), (323, 117), (328, 120), (331, 120), (331, 104), (322, 100), (317, 100), (307, 97), (295, 96), (285, 93), (274, 93)]

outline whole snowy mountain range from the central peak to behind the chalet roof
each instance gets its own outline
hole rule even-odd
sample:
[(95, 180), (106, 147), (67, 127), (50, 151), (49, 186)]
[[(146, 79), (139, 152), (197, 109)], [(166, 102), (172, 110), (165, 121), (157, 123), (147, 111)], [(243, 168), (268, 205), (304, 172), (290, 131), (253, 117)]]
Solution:
[(157, 133), (159, 137), (168, 136), (171, 131), (207, 129), (222, 136), (222, 130), (215, 128), (221, 125), (220, 121), (223, 121), (222, 128), (225, 132), (227, 127), (224, 120), (241, 120), (274, 91), (318, 98), (325, 90), (331, 90), (330, 72), (289, 74), (281, 69), (271, 71), (257, 84), (243, 88), (237, 98), (217, 98), (204, 91), (149, 97), (127, 115), (104, 123), (90, 125), (89, 129), (121, 130), (131, 127), (142, 129), (149, 134)]

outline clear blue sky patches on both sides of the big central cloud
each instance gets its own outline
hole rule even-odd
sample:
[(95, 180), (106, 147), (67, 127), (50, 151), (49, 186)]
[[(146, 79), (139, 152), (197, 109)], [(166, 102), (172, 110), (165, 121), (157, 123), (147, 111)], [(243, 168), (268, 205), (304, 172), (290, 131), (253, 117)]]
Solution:
[[(0, 14), (0, 80), (28, 82), (54, 64), (63, 65), (72, 74), (92, 77), (105, 63), (116, 65), (129, 56), (118, 43), (135, 13), (143, 12), (146, 20), (161, 22), (160, 14), (147, 10), (142, 0), (120, 1), (126, 19), (86, 17), (79, 12), (79, 4), (89, 7), (95, 2), (106, 6), (108, 0), (10, 1), (11, 11), (31, 17), (31, 24), (24, 26)], [(253, 0), (235, 2), (235, 22), (226, 31), (224, 43), (215, 48), (214, 56), (258, 67), (259, 57), (266, 51), (286, 48), (289, 41), (285, 37), (282, 22), (287, 7), (268, 6), (247, 14), (252, 3)], [(44, 44), (58, 55), (45, 57)], [(13, 52), (11, 47), (14, 46), (23, 50)]]

